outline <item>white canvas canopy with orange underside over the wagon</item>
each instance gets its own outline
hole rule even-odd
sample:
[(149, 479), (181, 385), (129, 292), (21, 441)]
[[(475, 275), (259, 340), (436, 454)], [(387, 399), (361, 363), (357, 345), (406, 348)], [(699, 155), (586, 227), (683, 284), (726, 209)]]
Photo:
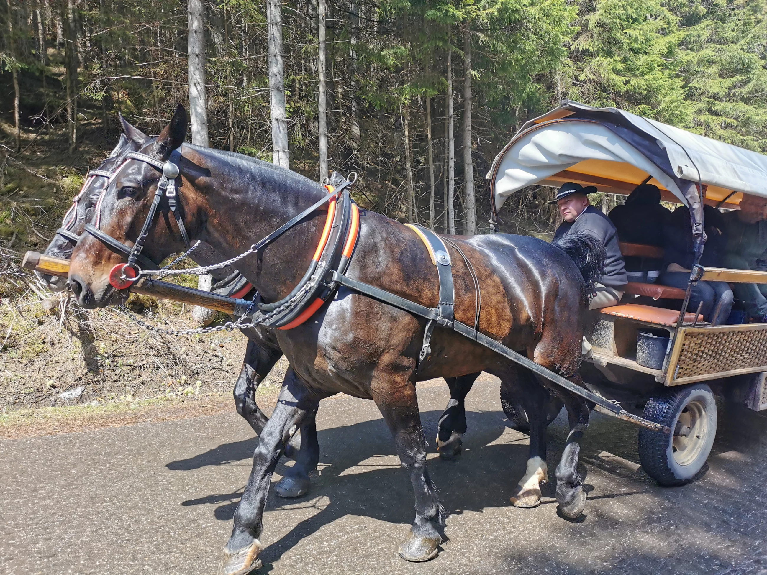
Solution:
[(647, 181), (683, 202), (702, 234), (703, 201), (737, 205), (742, 193), (767, 197), (767, 156), (617, 108), (570, 100), (522, 126), (487, 174), (495, 212), (514, 192), (578, 182), (627, 194)]

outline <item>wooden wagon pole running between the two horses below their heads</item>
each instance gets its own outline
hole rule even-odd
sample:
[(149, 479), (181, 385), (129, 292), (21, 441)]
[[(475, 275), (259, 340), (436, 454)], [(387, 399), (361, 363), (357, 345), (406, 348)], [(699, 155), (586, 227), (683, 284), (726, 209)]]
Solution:
[[(21, 262), (22, 267), (39, 271), (41, 274), (56, 275), (66, 278), (69, 275), (69, 260), (51, 258), (49, 255), (28, 251)], [(182, 304), (209, 307), (212, 310), (223, 311), (227, 314), (235, 312), (235, 306), (242, 300), (212, 294), (209, 291), (186, 288), (183, 285), (170, 284), (167, 281), (142, 278), (133, 284), (130, 291), (134, 294), (151, 295), (160, 299), (179, 301)]]

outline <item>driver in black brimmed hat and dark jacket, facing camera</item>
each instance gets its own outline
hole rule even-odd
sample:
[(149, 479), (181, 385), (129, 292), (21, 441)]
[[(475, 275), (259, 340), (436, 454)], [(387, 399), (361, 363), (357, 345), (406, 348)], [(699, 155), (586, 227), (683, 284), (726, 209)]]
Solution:
[(581, 184), (567, 182), (557, 192), (556, 199), (551, 202), (558, 206), (563, 220), (554, 234), (554, 241), (568, 234), (588, 232), (604, 244), (604, 250), (607, 252), (607, 258), (604, 260), (604, 275), (599, 278), (597, 294), (588, 306), (591, 310), (617, 305), (623, 297), (628, 281), (615, 225), (610, 218), (607, 218), (607, 215), (594, 208), (588, 201), (588, 194), (595, 192), (597, 189), (594, 186), (584, 188)]

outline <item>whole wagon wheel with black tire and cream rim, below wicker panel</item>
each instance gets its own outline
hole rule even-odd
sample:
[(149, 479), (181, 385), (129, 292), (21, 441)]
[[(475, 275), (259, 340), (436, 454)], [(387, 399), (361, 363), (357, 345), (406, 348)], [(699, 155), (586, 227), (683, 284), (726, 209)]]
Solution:
[(640, 430), (639, 460), (647, 475), (670, 487), (685, 485), (705, 473), (716, 436), (716, 401), (706, 383), (653, 397), (644, 407), (644, 417), (673, 430), (670, 435)]

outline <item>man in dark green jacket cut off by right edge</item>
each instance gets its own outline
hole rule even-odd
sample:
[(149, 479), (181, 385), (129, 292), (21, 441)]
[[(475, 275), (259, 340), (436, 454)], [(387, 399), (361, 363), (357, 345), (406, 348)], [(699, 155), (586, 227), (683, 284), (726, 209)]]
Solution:
[[(737, 270), (767, 271), (767, 199), (743, 194), (740, 209), (723, 215), (728, 241), (723, 265)], [(767, 285), (732, 284), (746, 315), (767, 321)]]

